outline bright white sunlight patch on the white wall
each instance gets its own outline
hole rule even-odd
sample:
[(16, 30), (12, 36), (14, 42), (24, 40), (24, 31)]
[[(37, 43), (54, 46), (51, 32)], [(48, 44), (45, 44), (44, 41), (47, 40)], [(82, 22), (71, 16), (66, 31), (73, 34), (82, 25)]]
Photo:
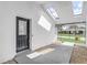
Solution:
[(41, 15), (39, 24), (47, 31), (50, 31), (52, 26), (51, 23), (43, 15)]

